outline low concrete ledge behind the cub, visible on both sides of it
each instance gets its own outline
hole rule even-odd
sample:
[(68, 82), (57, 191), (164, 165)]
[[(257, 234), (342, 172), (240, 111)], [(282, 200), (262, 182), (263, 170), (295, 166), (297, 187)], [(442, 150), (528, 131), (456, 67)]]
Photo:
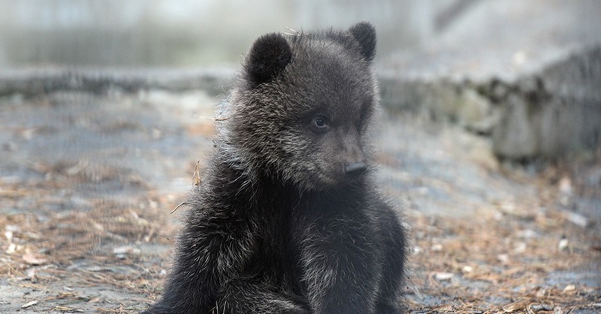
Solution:
[[(557, 159), (601, 145), (601, 45), (573, 50), (539, 68), (502, 78), (380, 71), (382, 104), (391, 112), (426, 115), (491, 136), (495, 154), (511, 160)], [(8, 70), (0, 74), (0, 96), (145, 89), (227, 94), (234, 73), (228, 68)]]

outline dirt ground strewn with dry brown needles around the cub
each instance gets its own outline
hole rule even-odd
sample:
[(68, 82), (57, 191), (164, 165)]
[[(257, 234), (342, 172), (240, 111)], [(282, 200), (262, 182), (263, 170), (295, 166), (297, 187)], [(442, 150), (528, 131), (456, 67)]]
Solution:
[[(2, 98), (0, 313), (156, 300), (217, 101)], [(516, 166), (457, 127), (386, 113), (380, 127), (379, 177), (410, 228), (410, 313), (601, 312), (601, 149)]]

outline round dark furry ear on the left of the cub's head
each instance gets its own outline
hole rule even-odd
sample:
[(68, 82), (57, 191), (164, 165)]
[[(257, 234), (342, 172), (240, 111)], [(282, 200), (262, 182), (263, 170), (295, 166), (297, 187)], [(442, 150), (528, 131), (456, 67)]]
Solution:
[(281, 34), (263, 35), (252, 44), (246, 58), (246, 79), (253, 88), (269, 82), (284, 70), (291, 59), (290, 45)]

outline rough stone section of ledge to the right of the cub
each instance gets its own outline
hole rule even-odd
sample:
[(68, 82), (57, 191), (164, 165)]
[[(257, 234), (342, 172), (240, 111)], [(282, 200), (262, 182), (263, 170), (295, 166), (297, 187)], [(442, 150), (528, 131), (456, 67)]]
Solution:
[(513, 77), (380, 76), (382, 104), (491, 135), (498, 157), (557, 159), (601, 145), (601, 46)]

